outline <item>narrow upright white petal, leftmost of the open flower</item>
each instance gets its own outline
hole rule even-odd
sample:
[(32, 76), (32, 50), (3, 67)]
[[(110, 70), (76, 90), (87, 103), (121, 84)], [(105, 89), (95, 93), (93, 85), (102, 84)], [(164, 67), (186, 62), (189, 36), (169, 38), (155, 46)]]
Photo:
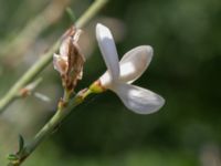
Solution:
[(112, 80), (116, 81), (119, 76), (119, 64), (114, 38), (108, 28), (101, 23), (96, 25), (96, 39), (106, 63), (108, 71), (112, 74)]

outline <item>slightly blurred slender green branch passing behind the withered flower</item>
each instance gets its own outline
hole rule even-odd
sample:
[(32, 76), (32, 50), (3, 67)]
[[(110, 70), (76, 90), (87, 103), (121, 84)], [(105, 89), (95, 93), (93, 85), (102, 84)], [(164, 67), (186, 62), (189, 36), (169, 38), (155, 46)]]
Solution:
[[(87, 23), (97, 12), (105, 6), (107, 0), (96, 0), (86, 12), (76, 21), (75, 25), (82, 28)], [(41, 56), (7, 92), (7, 94), (0, 100), (0, 113), (2, 113), (7, 106), (9, 106), (15, 98), (18, 92), (30, 83), (42, 70), (45, 69), (51, 62), (53, 53), (57, 51), (60, 46), (60, 40), (57, 40), (52, 48)]]

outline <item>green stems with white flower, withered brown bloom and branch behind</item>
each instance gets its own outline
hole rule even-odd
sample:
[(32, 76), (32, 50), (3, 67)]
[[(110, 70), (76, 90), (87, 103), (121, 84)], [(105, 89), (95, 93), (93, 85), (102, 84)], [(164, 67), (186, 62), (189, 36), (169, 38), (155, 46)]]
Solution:
[(25, 144), (23, 137), (20, 136), (19, 151), (14, 154), (10, 154), (8, 157), (10, 160), (9, 166), (20, 166), (32, 152), (57, 128), (73, 108), (84, 102), (91, 93), (102, 93), (106, 90), (110, 90), (118, 95), (128, 110), (138, 114), (157, 112), (165, 104), (165, 100), (160, 95), (131, 84), (141, 76), (149, 65), (154, 54), (152, 48), (149, 45), (136, 46), (128, 51), (119, 61), (114, 38), (109, 29), (101, 23), (96, 25), (96, 39), (107, 71), (92, 83), (88, 89), (83, 89), (75, 94), (74, 89), (78, 80), (82, 79), (83, 65), (85, 62), (77, 43), (81, 34), (81, 27), (83, 27), (105, 2), (104, 0), (95, 1), (88, 11), (83, 14), (82, 19), (76, 22), (75, 27), (71, 27), (51, 49), (51, 51), (54, 52), (59, 49), (59, 53), (52, 53), (50, 51), (46, 56), (36, 62), (36, 64), (10, 90), (8, 93), (10, 95), (6, 95), (7, 97), (3, 97), (3, 102), (0, 101), (0, 111), (2, 111), (18, 95), (18, 92), (21, 93), (22, 90), (28, 87), (31, 87), (31, 91), (35, 87), (38, 82), (33, 82), (29, 85), (27, 84), (52, 61), (53, 54), (54, 69), (61, 75), (64, 95), (57, 103), (55, 114), (39, 131), (32, 142)]

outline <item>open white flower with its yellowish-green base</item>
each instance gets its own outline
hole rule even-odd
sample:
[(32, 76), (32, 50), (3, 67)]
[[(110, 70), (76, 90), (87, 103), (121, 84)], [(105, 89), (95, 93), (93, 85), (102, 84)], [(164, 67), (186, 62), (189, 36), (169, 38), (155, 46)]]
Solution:
[(107, 72), (90, 89), (96, 92), (103, 92), (106, 89), (112, 90), (127, 108), (138, 114), (150, 114), (158, 111), (165, 103), (161, 96), (149, 90), (131, 85), (149, 65), (152, 48), (149, 45), (137, 46), (127, 52), (118, 62), (116, 45), (109, 29), (98, 23), (96, 25), (96, 39)]

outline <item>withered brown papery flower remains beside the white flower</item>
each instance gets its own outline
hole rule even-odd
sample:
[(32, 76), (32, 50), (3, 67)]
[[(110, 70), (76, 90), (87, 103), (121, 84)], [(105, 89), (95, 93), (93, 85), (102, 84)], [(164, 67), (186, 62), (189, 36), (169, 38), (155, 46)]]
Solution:
[(83, 75), (85, 58), (81, 53), (77, 43), (81, 32), (81, 30), (75, 28), (69, 29), (63, 35), (60, 54), (54, 53), (53, 55), (54, 69), (60, 72), (62, 84), (69, 91), (74, 90), (77, 81)]

